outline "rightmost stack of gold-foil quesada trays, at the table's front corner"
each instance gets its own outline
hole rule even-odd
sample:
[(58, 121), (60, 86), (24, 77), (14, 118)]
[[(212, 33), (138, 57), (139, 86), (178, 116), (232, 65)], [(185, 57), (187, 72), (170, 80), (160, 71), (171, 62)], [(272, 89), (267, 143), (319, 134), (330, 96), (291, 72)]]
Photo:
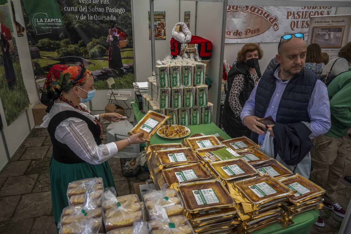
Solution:
[(279, 180), (296, 193), (288, 196), (289, 201), (284, 202), (283, 209), (291, 219), (295, 215), (312, 209), (322, 209), (323, 199), (320, 197), (325, 190), (299, 174)]

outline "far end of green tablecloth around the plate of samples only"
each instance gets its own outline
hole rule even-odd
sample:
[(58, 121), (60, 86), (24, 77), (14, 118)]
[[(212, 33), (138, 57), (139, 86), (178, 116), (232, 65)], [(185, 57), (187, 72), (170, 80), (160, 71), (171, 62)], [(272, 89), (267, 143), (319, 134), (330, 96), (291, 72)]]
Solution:
[[(139, 107), (137, 104), (132, 105), (133, 110), (134, 110), (134, 116), (135, 119), (139, 122), (145, 114), (141, 113), (139, 110)], [(224, 133), (217, 125), (215, 125), (213, 122), (209, 124), (200, 124), (200, 125), (194, 125), (194, 126), (188, 126), (190, 129), (190, 134), (189, 136), (196, 134), (196, 133), (204, 133), (205, 135), (211, 135), (211, 134), (216, 134), (218, 133), (221, 137), (223, 137), (225, 140), (230, 139), (230, 136), (228, 136), (226, 133)], [(163, 138), (157, 134), (154, 134), (151, 139), (150, 139), (150, 144), (164, 144), (164, 143), (180, 143), (184, 140), (183, 138), (178, 138), (178, 139), (167, 139)]]

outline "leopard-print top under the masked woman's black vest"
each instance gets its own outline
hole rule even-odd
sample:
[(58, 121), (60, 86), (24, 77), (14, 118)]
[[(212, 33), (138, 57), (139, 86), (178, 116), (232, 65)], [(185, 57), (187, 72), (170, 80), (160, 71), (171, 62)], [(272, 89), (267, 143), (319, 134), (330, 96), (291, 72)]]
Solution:
[[(245, 76), (243, 74), (236, 75), (233, 79), (232, 88), (230, 89), (229, 93), (228, 102), (235, 116), (239, 116), (241, 114), (241, 111), (243, 111), (243, 107), (239, 102), (239, 96), (244, 89), (244, 78)], [(250, 72), (250, 78), (256, 85), (259, 80), (257, 73), (253, 74)]]

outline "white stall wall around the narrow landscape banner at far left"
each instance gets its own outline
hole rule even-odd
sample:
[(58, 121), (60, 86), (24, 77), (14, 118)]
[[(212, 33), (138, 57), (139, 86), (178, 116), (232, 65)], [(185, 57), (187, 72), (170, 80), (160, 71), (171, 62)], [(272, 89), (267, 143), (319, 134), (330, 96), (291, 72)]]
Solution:
[[(21, 10), (20, 0), (13, 0), (14, 7), (16, 11), (18, 11), (22, 22), (23, 15)], [(9, 5), (9, 11), (12, 15), (11, 5)], [(14, 22), (12, 25), (15, 28)], [(26, 33), (22, 37), (15, 36), (16, 44), (18, 48), (18, 55), (20, 58), (20, 64), (22, 69), (22, 75), (24, 84), (27, 89), (27, 93), (29, 96), (29, 101), (32, 105), (27, 109), (29, 126), (27, 121), (26, 112), (22, 113), (14, 122), (12, 122), (9, 126), (6, 124), (4, 109), (2, 104), (0, 105), (0, 114), (2, 117), (2, 124), (4, 125), (4, 135), (7, 143), (9, 156), (12, 157), (22, 143), (26, 140), (26, 138), (30, 134), (30, 130), (34, 127), (34, 118), (32, 114), (32, 108), (35, 104), (39, 103), (37, 85), (35, 83), (31, 55), (29, 53), (28, 41)], [(0, 170), (8, 163), (5, 151), (5, 145), (2, 143), (2, 139), (0, 140)]]

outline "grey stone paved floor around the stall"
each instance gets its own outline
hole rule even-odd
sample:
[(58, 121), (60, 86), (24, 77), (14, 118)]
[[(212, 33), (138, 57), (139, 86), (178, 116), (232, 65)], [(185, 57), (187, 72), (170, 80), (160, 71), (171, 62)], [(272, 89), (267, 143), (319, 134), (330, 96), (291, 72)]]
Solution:
[[(104, 124), (106, 129), (108, 124)], [(351, 175), (351, 138), (347, 140), (344, 175)], [(104, 141), (107, 143), (106, 132)], [(56, 233), (51, 205), (49, 159), (52, 144), (47, 129), (34, 129), (18, 153), (0, 174), (0, 233)], [(122, 176), (120, 160), (108, 160), (119, 195), (134, 193), (133, 184), (149, 178), (142, 172), (133, 178)], [(346, 209), (350, 201), (351, 183), (341, 179), (338, 202)], [(335, 234), (343, 221), (327, 209), (321, 210), (325, 227), (313, 225), (310, 234)]]

